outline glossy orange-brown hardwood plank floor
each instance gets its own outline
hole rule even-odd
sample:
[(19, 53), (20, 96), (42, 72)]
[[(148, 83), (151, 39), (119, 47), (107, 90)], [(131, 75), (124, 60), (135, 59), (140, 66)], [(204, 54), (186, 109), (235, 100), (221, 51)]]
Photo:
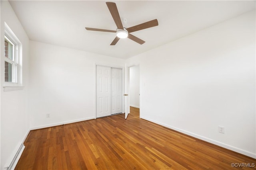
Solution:
[(140, 119), (134, 107), (126, 120), (30, 131), (24, 145), (15, 170), (256, 169), (255, 159)]

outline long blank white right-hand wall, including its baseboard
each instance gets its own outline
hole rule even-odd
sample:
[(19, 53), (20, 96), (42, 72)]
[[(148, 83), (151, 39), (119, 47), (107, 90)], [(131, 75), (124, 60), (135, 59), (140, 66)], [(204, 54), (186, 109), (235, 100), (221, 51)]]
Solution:
[(256, 158), (255, 55), (252, 11), (128, 59), (140, 116)]

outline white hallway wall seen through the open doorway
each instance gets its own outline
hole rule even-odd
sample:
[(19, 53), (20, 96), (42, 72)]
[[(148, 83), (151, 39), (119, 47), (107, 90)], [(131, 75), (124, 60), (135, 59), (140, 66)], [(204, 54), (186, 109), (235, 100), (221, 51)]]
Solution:
[(140, 108), (140, 66), (130, 67), (130, 106)]

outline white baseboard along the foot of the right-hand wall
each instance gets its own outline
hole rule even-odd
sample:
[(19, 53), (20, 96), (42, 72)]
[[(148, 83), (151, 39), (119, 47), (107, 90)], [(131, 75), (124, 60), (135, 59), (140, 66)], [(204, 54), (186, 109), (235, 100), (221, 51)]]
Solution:
[(170, 126), (170, 125), (166, 125), (165, 123), (161, 123), (161, 122), (158, 122), (158, 121), (154, 121), (154, 120), (152, 120), (152, 119), (147, 119), (146, 117), (140, 117), (140, 118), (141, 118), (141, 119), (145, 119), (145, 120), (147, 120), (147, 121), (151, 121), (151, 122), (156, 123), (156, 124), (158, 124), (158, 125), (162, 125), (162, 126), (164, 126), (164, 127), (168, 127), (168, 128), (173, 129), (173, 130), (175, 130), (175, 131), (184, 133), (184, 134), (186, 134), (186, 135), (195, 137), (195, 138), (197, 138), (197, 139), (201, 139), (201, 140), (203, 140), (203, 141), (212, 143), (212, 144), (214, 144), (214, 145), (218, 145), (218, 146), (220, 146), (220, 147), (223, 147), (223, 148), (226, 148), (226, 149), (229, 149), (229, 150), (232, 150), (232, 151), (235, 151), (235, 152), (238, 152), (238, 153), (240, 153), (240, 154), (244, 154), (244, 155), (246, 155), (246, 156), (250, 156), (250, 157), (256, 159), (256, 153), (249, 152), (249, 151), (247, 151), (247, 150), (243, 150), (243, 149), (240, 149), (240, 148), (237, 148), (237, 147), (233, 147), (233, 146), (231, 146), (231, 145), (228, 145), (228, 144), (225, 144), (225, 143), (221, 143), (221, 142), (219, 142), (219, 141), (215, 141), (215, 140), (213, 140), (213, 139), (210, 139), (210, 138), (207, 138), (207, 137), (203, 137), (203, 136), (201, 136), (201, 135), (197, 135), (197, 134), (195, 134), (195, 133), (191, 133), (191, 132), (189, 132), (189, 131), (185, 131), (185, 130), (182, 130), (182, 129), (179, 129), (179, 128), (176, 128), (176, 127), (173, 127), (173, 126)]

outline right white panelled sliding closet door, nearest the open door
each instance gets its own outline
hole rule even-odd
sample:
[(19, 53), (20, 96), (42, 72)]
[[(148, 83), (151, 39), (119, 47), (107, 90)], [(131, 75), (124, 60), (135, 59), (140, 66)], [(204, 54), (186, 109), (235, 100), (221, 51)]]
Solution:
[(122, 69), (111, 68), (111, 114), (122, 113)]

